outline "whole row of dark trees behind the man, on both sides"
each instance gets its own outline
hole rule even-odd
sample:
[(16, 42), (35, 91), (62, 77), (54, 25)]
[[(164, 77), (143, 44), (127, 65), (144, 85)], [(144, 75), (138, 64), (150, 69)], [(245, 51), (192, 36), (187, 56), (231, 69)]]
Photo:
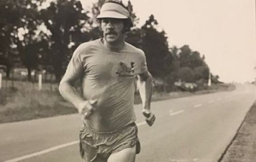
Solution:
[[(82, 8), (79, 0), (55, 0), (42, 8), (45, 1), (0, 1), (0, 64), (10, 71), (14, 56), (18, 56), (29, 77), (32, 69), (51, 65), (59, 81), (75, 48), (102, 36), (96, 16), (106, 0), (98, 0), (89, 11)], [(189, 45), (169, 48), (166, 33), (159, 29), (154, 15), (138, 27), (139, 18), (130, 1), (126, 8), (134, 27), (125, 40), (145, 52), (148, 69), (155, 79), (170, 86), (176, 81), (208, 80), (209, 67), (204, 55)], [(218, 79), (219, 76), (212, 75), (212, 82), (217, 83)]]

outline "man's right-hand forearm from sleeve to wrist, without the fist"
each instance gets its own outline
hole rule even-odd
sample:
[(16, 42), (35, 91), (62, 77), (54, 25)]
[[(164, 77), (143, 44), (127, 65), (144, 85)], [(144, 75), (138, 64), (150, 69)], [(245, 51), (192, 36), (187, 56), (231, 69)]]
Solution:
[(152, 97), (152, 76), (150, 74), (145, 79), (139, 77), (139, 94), (143, 109), (150, 109)]

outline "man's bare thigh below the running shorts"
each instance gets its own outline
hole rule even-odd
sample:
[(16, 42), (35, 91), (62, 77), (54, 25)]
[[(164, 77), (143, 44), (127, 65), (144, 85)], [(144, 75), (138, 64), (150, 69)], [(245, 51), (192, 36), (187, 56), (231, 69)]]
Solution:
[(136, 145), (111, 154), (108, 158), (108, 162), (135, 162), (135, 155)]

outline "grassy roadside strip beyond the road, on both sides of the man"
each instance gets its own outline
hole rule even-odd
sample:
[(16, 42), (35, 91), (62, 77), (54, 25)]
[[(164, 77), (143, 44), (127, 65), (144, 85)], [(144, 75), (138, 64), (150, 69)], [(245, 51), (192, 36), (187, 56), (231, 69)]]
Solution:
[[(152, 101), (231, 91), (231, 84), (212, 85), (207, 90), (191, 92), (154, 93)], [(141, 103), (137, 94), (135, 104)], [(23, 81), (5, 81), (0, 89), (0, 123), (30, 120), (42, 117), (77, 113), (77, 110), (60, 96), (57, 84), (44, 83), (39, 91), (37, 84)]]

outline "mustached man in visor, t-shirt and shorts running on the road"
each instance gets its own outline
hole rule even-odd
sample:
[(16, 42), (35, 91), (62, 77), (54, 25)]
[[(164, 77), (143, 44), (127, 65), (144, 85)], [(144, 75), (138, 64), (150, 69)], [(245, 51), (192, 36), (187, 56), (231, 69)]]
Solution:
[[(142, 114), (151, 126), (152, 76), (142, 50), (124, 42), (132, 27), (121, 2), (106, 1), (97, 16), (103, 38), (77, 47), (59, 91), (83, 115), (80, 153), (85, 162), (134, 162), (139, 153), (135, 124), (135, 77), (139, 78)], [(83, 96), (74, 89), (82, 80)]]

